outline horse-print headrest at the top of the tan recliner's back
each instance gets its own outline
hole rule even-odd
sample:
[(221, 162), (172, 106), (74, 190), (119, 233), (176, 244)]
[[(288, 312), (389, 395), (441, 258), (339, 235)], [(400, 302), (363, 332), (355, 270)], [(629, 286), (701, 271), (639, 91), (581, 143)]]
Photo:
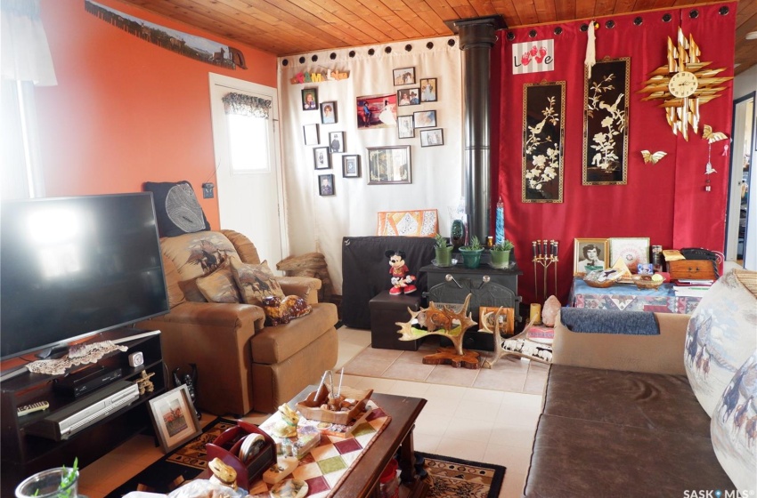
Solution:
[(174, 261), (182, 280), (204, 277), (227, 258), (237, 256), (231, 241), (212, 231), (161, 238), (160, 250)]

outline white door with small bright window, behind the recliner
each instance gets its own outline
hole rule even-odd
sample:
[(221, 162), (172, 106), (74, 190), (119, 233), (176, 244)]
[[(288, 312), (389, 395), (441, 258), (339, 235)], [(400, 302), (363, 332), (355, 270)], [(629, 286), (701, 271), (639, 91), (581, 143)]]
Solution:
[[(229, 92), (272, 100), (269, 117), (227, 115)], [(283, 217), (275, 88), (210, 73), (210, 108), (216, 149), (218, 212), (222, 229), (246, 235), (261, 261), (276, 270), (289, 253)]]

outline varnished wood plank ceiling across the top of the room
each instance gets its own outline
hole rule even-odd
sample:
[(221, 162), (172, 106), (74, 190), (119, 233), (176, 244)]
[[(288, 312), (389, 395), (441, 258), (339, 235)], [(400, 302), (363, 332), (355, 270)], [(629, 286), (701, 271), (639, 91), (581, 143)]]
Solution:
[[(121, 0), (278, 56), (452, 32), (445, 20), (501, 14), (509, 28), (712, 4), (704, 0)], [(738, 74), (757, 64), (757, 0), (738, 0)]]

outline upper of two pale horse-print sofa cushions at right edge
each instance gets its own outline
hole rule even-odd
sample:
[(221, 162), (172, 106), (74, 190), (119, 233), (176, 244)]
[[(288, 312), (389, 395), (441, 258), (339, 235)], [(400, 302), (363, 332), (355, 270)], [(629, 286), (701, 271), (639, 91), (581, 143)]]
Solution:
[(711, 417), (737, 369), (757, 349), (757, 298), (745, 286), (757, 273), (731, 270), (704, 294), (691, 315), (684, 364), (692, 390)]

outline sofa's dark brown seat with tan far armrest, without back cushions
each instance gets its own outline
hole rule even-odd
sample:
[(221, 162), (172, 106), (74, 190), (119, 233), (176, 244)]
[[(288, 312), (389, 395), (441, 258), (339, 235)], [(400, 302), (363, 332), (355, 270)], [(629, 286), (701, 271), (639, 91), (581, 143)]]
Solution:
[(659, 335), (571, 332), (558, 317), (525, 496), (733, 490), (684, 368), (688, 315)]

